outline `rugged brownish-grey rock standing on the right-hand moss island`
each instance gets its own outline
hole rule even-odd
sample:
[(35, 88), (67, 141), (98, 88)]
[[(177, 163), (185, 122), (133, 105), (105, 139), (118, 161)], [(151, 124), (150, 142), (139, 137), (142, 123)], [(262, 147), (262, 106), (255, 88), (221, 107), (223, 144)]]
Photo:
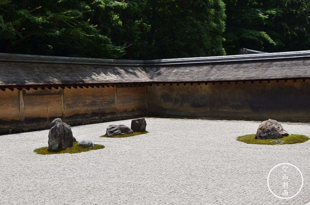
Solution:
[(287, 133), (281, 126), (280, 123), (278, 123), (276, 120), (266, 120), (263, 121), (258, 129), (257, 133), (255, 135), (255, 139), (277, 139), (282, 138), (283, 136), (288, 136), (289, 133)]

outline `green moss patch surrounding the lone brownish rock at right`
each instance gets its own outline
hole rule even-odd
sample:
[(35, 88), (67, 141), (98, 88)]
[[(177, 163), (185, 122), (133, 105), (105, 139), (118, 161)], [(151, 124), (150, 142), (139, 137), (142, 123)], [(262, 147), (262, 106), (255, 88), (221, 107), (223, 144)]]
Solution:
[(245, 142), (247, 144), (257, 144), (257, 145), (278, 145), (276, 142), (271, 142), (272, 140), (281, 140), (284, 141), (284, 144), (296, 144), (306, 142), (309, 137), (300, 134), (291, 134), (287, 137), (278, 138), (278, 139), (265, 139), (258, 140), (255, 139), (255, 134), (248, 134), (237, 137), (237, 141)]

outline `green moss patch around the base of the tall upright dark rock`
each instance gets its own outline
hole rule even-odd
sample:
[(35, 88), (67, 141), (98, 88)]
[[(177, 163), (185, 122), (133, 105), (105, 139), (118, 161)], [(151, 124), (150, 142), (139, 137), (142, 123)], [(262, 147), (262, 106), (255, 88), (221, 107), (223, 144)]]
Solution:
[(99, 149), (104, 148), (103, 145), (94, 144), (94, 146), (95, 147), (85, 147), (82, 145), (78, 145), (78, 142), (73, 142), (73, 147), (68, 147), (64, 150), (49, 151), (48, 147), (41, 147), (41, 148), (33, 150), (33, 152), (39, 155), (53, 155), (53, 154), (64, 154), (64, 153), (74, 154), (74, 153), (81, 153), (81, 152), (87, 152), (90, 150), (99, 150)]

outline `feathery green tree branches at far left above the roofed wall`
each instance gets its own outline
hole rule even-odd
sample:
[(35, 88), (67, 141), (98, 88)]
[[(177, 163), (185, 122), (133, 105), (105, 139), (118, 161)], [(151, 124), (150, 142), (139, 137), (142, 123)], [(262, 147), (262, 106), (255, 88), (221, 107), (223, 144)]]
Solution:
[(112, 0), (0, 0), (0, 52), (119, 58), (125, 54), (91, 24), (97, 10), (110, 21)]

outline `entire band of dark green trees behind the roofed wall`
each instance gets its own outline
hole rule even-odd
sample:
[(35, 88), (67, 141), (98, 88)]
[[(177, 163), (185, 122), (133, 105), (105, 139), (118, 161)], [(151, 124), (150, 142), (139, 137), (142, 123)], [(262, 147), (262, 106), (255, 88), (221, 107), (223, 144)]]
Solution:
[(310, 50), (310, 0), (0, 0), (0, 52), (111, 59)]

